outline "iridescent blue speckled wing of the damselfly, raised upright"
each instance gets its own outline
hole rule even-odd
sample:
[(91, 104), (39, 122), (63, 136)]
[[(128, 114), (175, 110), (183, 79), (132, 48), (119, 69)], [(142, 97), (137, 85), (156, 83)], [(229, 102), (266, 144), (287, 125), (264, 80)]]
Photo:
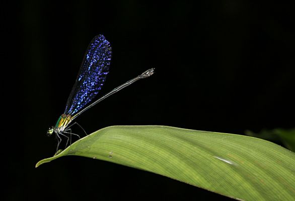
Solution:
[(67, 99), (64, 114), (75, 115), (98, 94), (109, 72), (111, 54), (111, 45), (103, 35), (92, 39)]

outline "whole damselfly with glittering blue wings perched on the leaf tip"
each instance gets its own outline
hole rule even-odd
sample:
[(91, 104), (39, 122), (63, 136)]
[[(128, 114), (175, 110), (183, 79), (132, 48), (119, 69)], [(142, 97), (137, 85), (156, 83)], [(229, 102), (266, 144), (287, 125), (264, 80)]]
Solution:
[[(132, 84), (133, 82), (141, 78), (149, 77), (154, 73), (154, 68), (146, 70), (142, 74), (114, 88), (113, 90), (90, 104), (93, 98), (101, 90), (105, 82), (106, 75), (109, 73), (111, 55), (112, 50), (109, 41), (107, 41), (103, 35), (98, 35), (94, 37), (86, 50), (76, 82), (73, 85), (67, 99), (65, 111), (58, 118), (55, 126), (52, 126), (47, 131), (48, 136), (51, 136), (53, 133), (55, 133), (57, 137), (58, 142), (56, 151), (58, 150), (62, 137), (66, 138), (65, 147), (67, 146), (69, 137), (71, 137), (71, 135), (75, 135), (80, 138), (78, 134), (71, 132), (71, 126), (75, 124), (80, 126), (77, 122), (71, 123), (79, 115), (81, 115), (83, 112), (90, 109), (94, 105), (98, 104), (108, 96), (121, 90), (122, 88)], [(85, 132), (84, 129), (83, 131)]]

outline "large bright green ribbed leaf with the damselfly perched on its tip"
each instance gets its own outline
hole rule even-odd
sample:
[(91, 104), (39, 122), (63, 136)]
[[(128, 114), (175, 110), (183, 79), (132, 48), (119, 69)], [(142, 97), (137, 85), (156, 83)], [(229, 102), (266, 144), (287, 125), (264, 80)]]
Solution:
[(167, 126), (112, 126), (39, 165), (85, 156), (161, 174), (243, 200), (294, 200), (295, 154), (241, 135)]

